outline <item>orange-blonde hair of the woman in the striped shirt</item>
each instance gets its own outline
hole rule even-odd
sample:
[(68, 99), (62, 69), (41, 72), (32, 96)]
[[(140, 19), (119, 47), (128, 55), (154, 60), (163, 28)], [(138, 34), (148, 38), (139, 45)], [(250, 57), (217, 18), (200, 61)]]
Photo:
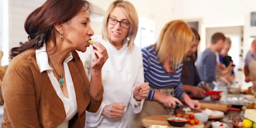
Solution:
[(193, 43), (193, 38), (195, 38), (194, 33), (188, 23), (183, 20), (166, 23), (155, 43), (159, 61), (163, 63), (167, 57), (170, 57), (174, 68), (180, 66), (183, 57)]

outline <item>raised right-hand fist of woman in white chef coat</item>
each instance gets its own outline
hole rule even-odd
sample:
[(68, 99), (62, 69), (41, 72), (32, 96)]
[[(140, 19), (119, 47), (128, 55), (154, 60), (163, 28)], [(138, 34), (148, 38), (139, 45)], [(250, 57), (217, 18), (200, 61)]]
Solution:
[(143, 100), (147, 97), (150, 87), (149, 83), (145, 82), (134, 89), (134, 98), (138, 101)]

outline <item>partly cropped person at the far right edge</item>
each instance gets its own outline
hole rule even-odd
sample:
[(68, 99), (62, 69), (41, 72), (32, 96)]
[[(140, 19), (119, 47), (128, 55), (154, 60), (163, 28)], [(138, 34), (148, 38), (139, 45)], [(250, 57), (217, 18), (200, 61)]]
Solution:
[(244, 60), (245, 82), (256, 81), (256, 39), (251, 44)]

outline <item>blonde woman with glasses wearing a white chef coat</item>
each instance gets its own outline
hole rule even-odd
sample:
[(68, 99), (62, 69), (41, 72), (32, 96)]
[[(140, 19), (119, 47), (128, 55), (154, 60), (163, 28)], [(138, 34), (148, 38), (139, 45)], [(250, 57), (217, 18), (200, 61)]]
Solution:
[[(92, 37), (106, 48), (109, 59), (102, 67), (102, 104), (96, 113), (86, 112), (86, 127), (128, 127), (131, 111), (142, 109), (150, 87), (144, 83), (141, 50), (134, 45), (138, 22), (130, 2), (114, 1), (103, 19), (102, 35)], [(91, 47), (85, 54), (95, 53)], [(93, 58), (80, 56), (90, 78)]]

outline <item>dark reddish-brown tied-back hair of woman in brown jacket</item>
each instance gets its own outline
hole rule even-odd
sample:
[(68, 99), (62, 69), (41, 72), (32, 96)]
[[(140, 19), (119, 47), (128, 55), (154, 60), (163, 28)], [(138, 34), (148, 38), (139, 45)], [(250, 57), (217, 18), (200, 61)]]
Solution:
[(13, 47), (10, 58), (29, 49), (39, 49), (50, 38), (56, 41), (54, 25), (72, 19), (82, 7), (90, 14), (93, 11), (91, 3), (84, 0), (47, 0), (27, 17), (24, 28), (29, 35), (28, 41), (19, 42), (19, 47)]

